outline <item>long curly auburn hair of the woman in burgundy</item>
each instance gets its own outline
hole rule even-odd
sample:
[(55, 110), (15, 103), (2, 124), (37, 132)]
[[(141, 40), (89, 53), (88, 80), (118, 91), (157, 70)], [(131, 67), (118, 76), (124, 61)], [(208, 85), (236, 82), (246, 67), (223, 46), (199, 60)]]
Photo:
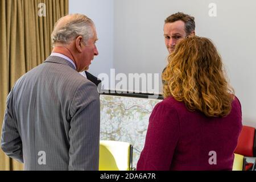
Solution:
[(168, 62), (162, 75), (164, 98), (172, 96), (188, 110), (199, 110), (208, 117), (230, 113), (234, 90), (209, 39), (193, 36), (181, 40)]

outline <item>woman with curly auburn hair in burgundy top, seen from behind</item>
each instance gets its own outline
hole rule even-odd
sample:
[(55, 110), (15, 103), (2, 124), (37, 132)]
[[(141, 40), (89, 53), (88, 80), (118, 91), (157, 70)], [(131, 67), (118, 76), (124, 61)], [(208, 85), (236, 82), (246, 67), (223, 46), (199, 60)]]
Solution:
[(168, 61), (137, 170), (232, 170), (242, 111), (217, 49), (193, 36)]

